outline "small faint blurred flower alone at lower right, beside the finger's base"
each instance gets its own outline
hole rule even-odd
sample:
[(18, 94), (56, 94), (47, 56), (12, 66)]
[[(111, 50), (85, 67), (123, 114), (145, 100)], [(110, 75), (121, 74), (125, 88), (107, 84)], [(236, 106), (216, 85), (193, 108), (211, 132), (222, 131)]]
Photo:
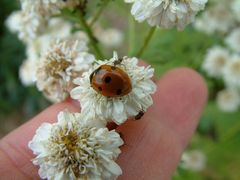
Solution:
[(192, 171), (202, 171), (206, 167), (206, 156), (199, 150), (186, 152), (182, 156), (181, 166)]

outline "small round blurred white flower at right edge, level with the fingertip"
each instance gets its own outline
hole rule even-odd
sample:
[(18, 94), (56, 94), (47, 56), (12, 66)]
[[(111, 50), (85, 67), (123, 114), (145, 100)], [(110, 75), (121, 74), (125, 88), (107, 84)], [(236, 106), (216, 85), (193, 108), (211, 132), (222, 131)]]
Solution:
[(217, 95), (218, 107), (224, 112), (235, 112), (240, 107), (240, 94), (235, 89), (225, 89)]

